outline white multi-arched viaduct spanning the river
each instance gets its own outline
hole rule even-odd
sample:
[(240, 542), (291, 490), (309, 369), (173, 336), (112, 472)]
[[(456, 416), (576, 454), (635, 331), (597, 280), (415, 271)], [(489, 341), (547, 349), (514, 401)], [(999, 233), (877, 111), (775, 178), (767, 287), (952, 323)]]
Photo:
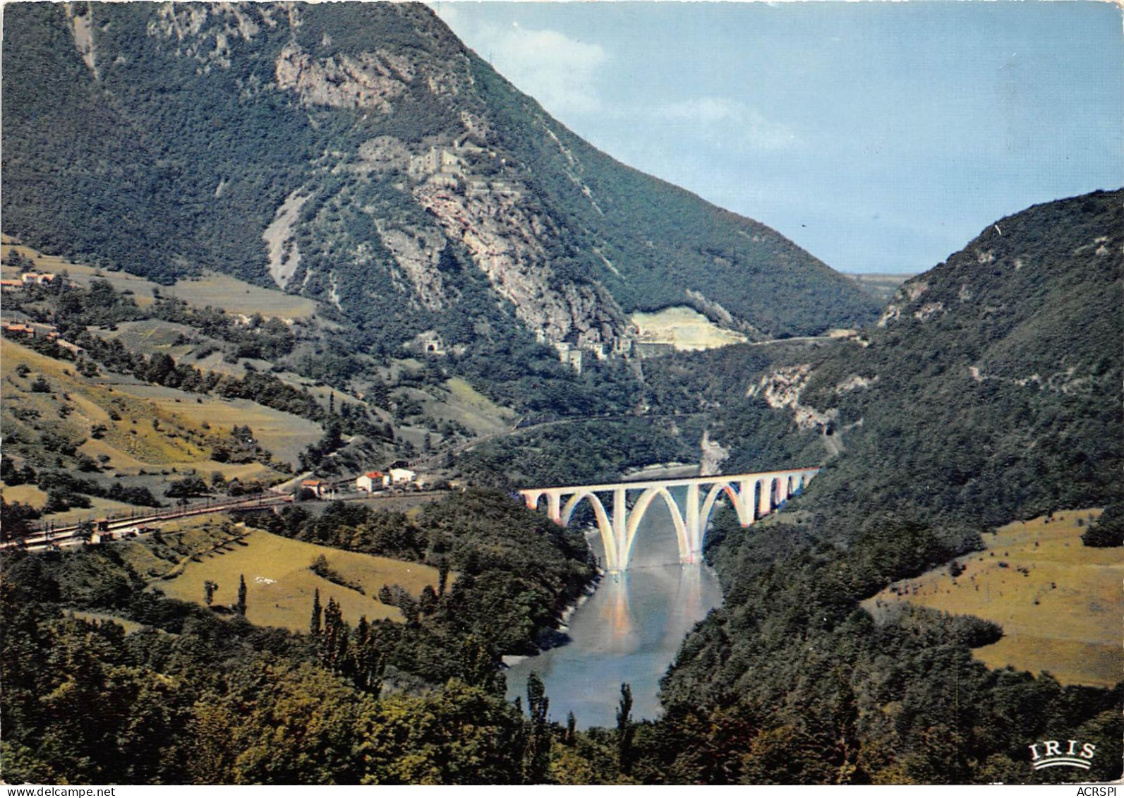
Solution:
[[(606, 570), (623, 571), (628, 568), (640, 523), (656, 498), (663, 499), (671, 514), (671, 523), (676, 527), (676, 538), (679, 542), (680, 562), (694, 563), (701, 560), (707, 523), (715, 504), (722, 497), (729, 499), (734, 511), (737, 513), (737, 520), (745, 527), (772, 513), (788, 497), (799, 493), (817, 473), (819, 473), (818, 468), (792, 469), (755, 474), (720, 474), (568, 488), (528, 488), (519, 492), (531, 509), (538, 507), (545, 498), (547, 513), (562, 526), (570, 523), (574, 510), (582, 501), (588, 501), (593, 509), (597, 528), (605, 544)], [(687, 489), (682, 508), (670, 490), (679, 487)], [(629, 500), (633, 502), (631, 509)]]

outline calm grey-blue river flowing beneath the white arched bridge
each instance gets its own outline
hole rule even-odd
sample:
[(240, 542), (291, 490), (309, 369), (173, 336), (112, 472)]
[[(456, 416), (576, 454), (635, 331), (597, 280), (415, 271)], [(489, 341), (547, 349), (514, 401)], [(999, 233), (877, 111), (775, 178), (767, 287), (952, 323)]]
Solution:
[[(600, 555), (596, 535), (589, 541)], [(628, 682), (633, 719), (655, 718), (660, 679), (683, 636), (720, 601), (709, 568), (679, 564), (671, 516), (655, 502), (641, 524), (628, 570), (602, 577), (570, 617), (569, 643), (511, 665), (508, 698), (523, 696), (526, 704), (534, 671), (546, 686), (552, 720), (564, 724), (572, 711), (579, 728), (615, 726), (620, 683)]]

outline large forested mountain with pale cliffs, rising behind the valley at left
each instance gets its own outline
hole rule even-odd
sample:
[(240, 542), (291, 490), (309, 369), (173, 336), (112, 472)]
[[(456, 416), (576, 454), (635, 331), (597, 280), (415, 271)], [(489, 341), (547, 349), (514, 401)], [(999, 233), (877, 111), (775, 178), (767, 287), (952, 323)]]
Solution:
[(676, 305), (751, 337), (876, 312), (581, 140), (420, 4), (9, 3), (4, 27), (4, 230), (44, 251), (275, 284), (361, 350), (600, 352)]

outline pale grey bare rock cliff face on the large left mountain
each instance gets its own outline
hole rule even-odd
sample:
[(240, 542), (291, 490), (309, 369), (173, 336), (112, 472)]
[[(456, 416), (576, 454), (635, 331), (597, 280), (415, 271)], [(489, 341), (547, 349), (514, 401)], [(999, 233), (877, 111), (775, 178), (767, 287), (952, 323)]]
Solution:
[[(194, 58), (203, 70), (229, 70), (233, 38), (251, 43), (263, 26), (300, 28), (302, 7), (280, 10), (220, 3), (163, 6), (148, 31), (174, 42), (175, 57)], [(320, 44), (330, 47), (330, 34), (324, 34)], [(459, 291), (441, 265), (446, 248), (456, 246), (519, 320), (546, 342), (592, 347), (627, 335), (624, 314), (602, 285), (568, 280), (552, 269), (551, 252), (562, 246), (563, 221), (537, 203), (534, 188), (524, 180), (527, 167), (489, 145), (498, 135), (486, 114), (477, 103), (464, 102), (473, 93), (468, 53), (452, 47), (439, 60), (410, 58), (379, 47), (377, 36), (372, 45), (357, 53), (315, 55), (290, 40), (274, 60), (271, 88), (290, 92), (308, 109), (360, 114), (368, 128), (378, 128), (395, 115), (399, 102), (416, 94), (454, 109), (455, 120), (420, 138), (372, 136), (324, 153), (317, 175), (285, 197), (263, 233), (277, 284), (302, 291), (314, 278), (332, 285), (346, 280), (332, 265), (301, 264), (297, 238), (302, 227), (311, 238), (334, 238), (347, 265), (378, 267), (365, 256), (372, 242), (347, 232), (339, 235), (329, 215), (299, 216), (314, 194), (324, 197), (334, 188), (325, 187), (320, 174), (346, 174), (352, 185), (337, 193), (337, 203), (360, 199), (372, 184), (390, 184), (426, 214), (396, 219), (387, 218), (378, 205), (360, 209), (370, 217), (377, 245), (389, 255), (382, 265), (389, 265), (395, 288), (409, 306), (443, 312), (456, 305)]]

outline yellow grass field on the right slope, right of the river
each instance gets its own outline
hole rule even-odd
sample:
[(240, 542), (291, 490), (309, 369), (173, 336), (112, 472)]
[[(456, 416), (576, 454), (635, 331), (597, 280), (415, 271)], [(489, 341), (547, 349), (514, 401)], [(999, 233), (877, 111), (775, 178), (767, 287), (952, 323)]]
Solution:
[[(957, 560), (963, 573), (930, 571), (887, 588), (864, 606), (909, 601), (1003, 626), (998, 643), (975, 651), (989, 668), (1048, 671), (1064, 684), (1111, 687), (1124, 679), (1121, 617), (1124, 559), (1090, 548), (1081, 533), (1100, 510), (1063, 510), (984, 536), (987, 550)], [(1081, 524), (1081, 526), (1079, 526)]]

